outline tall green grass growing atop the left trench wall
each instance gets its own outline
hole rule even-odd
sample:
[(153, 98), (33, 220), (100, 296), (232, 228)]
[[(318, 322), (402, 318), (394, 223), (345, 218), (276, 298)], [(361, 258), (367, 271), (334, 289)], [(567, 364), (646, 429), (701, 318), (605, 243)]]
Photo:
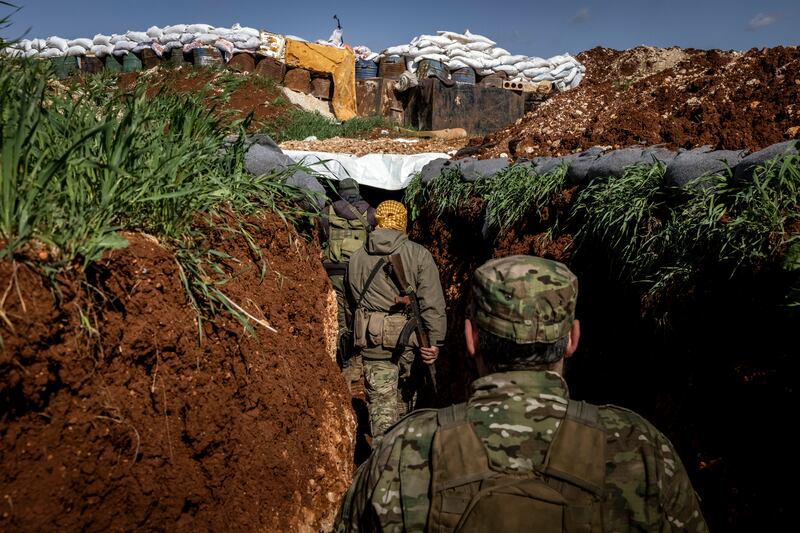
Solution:
[(249, 119), (223, 122), (202, 96), (147, 97), (143, 82), (110, 97), (104, 77), (54, 93), (51, 73), (48, 62), (0, 62), (0, 259), (45, 249), (47, 264), (35, 266), (84, 269), (127, 245), (119, 230), (146, 232), (176, 253), (201, 316), (227, 310), (249, 326), (213, 281), (220, 255), (196, 221), (233, 214), (231, 231), (248, 238), (249, 214), (308, 220), (295, 207), (305, 193), (284, 184), (296, 169), (247, 174), (241, 140), (222, 147)]

